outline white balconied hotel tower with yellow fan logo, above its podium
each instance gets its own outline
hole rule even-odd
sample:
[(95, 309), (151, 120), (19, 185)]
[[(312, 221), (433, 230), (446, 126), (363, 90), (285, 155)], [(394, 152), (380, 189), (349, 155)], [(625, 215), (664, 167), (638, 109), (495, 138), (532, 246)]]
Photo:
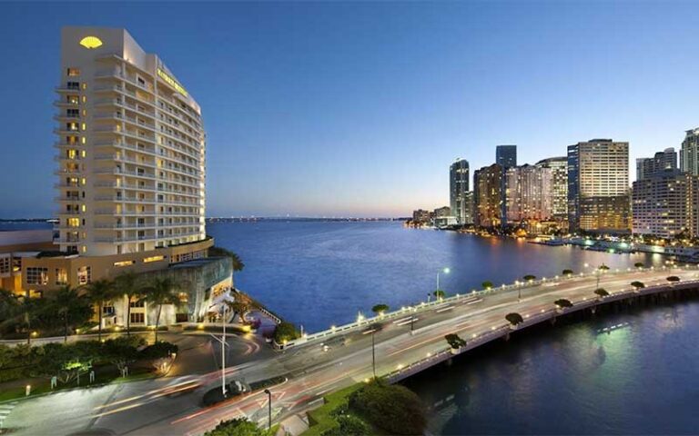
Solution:
[(61, 251), (139, 253), (206, 238), (199, 105), (124, 29), (66, 27), (56, 92)]

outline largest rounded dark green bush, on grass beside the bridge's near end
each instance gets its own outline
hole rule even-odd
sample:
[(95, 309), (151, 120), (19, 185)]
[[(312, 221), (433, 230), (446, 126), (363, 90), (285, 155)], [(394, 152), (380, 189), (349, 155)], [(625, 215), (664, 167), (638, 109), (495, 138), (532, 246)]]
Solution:
[(349, 408), (393, 434), (422, 434), (427, 425), (420, 398), (400, 385), (370, 381), (349, 395)]

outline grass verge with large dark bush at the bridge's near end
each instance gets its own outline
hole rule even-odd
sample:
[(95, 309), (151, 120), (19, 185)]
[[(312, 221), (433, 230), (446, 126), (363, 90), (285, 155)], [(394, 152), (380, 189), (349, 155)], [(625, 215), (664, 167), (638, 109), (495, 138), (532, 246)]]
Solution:
[(324, 397), (325, 404), (309, 411), (304, 436), (364, 436), (422, 434), (427, 418), (415, 392), (386, 381), (357, 383)]

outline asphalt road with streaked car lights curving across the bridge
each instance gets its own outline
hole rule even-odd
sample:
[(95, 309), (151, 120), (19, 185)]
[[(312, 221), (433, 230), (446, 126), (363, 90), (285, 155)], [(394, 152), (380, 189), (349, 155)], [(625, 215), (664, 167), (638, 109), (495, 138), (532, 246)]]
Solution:
[[(667, 282), (666, 278), (671, 275), (680, 277), (681, 282)], [(511, 332), (504, 319), (509, 312), (522, 314), (525, 322), (519, 327), (521, 330), (560, 315), (553, 303), (559, 298), (573, 302), (567, 312), (592, 310), (597, 304), (642, 294), (693, 288), (699, 286), (698, 279), (694, 267), (606, 272), (600, 277), (600, 287), (611, 295), (602, 301), (593, 293), (597, 287), (594, 274), (550, 278), (454, 297), (420, 305), (412, 312), (405, 310), (405, 315), (387, 316), (380, 322), (380, 329), (374, 325), (380, 320), (370, 320), (342, 332), (338, 327), (337, 332), (323, 333), (322, 340), (309, 335), (305, 343), (295, 343), (273, 357), (228, 368), (228, 378), (249, 382), (285, 376), (287, 381), (270, 389), (273, 419), (279, 421), (318, 405), (322, 395), (329, 391), (371, 377), (372, 336), (376, 343), (377, 374), (396, 381), (451, 358), (444, 341), (446, 334), (458, 333), (468, 342), (467, 349), (506, 336)], [(630, 284), (633, 281), (644, 282), (646, 287), (636, 292)], [(343, 339), (339, 340), (340, 337)], [(323, 350), (323, 343), (331, 344), (327, 352)], [(201, 395), (217, 381), (218, 373), (212, 372), (200, 377), (56, 393), (20, 402), (5, 425), (19, 427), (17, 434), (76, 431), (88, 431), (83, 434), (200, 434), (218, 421), (241, 415), (266, 423), (268, 397), (261, 391), (212, 408), (201, 408)], [(198, 388), (189, 389), (192, 383)], [(56, 403), (66, 404), (66, 408), (54, 411), (52, 405)], [(128, 420), (124, 419), (126, 415)], [(30, 426), (21, 429), (27, 424)]]

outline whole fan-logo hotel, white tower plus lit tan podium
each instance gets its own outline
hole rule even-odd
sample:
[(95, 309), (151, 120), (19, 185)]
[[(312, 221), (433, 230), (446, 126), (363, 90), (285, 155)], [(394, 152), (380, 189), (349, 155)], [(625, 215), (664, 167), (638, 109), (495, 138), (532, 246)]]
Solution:
[[(199, 105), (124, 29), (66, 27), (61, 39), (56, 236), (0, 240), (0, 284), (40, 296), (123, 272), (169, 277), (187, 304), (164, 309), (161, 321), (205, 319), (232, 286), (232, 265), (208, 258)], [(103, 308), (104, 325), (124, 324), (129, 305), (130, 322), (153, 322), (153, 307), (133, 303)]]

